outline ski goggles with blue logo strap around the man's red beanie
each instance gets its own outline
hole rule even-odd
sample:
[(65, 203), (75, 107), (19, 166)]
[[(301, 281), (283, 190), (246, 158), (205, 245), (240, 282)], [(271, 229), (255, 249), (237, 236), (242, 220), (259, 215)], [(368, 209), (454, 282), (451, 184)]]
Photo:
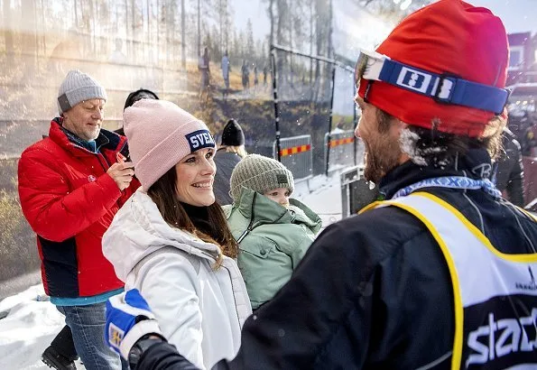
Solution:
[[(509, 97), (509, 91), (505, 88), (495, 88), (445, 73), (418, 69), (391, 60), (376, 51), (360, 51), (355, 68), (356, 89), (360, 88), (361, 79), (383, 81), (397, 88), (431, 97), (438, 103), (469, 106), (494, 112), (495, 115), (503, 112)], [(368, 89), (366, 95), (367, 93)]]

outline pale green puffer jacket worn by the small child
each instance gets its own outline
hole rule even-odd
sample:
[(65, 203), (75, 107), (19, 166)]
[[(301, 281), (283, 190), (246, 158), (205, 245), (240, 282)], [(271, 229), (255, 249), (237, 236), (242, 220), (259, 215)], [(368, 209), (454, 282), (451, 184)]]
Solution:
[(239, 244), (238, 267), (252, 308), (257, 309), (289, 281), (319, 232), (321, 221), (296, 199), (290, 199), (287, 209), (245, 188), (237, 204), (225, 211)]

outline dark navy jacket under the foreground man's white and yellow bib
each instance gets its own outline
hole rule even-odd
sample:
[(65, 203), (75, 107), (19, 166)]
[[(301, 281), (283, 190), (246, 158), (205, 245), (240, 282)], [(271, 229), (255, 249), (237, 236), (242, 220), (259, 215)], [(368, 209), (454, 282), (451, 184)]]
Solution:
[[(485, 151), (456, 163), (440, 170), (406, 162), (384, 177), (381, 191), (390, 199), (419, 180), (490, 174)], [(425, 190), (457, 208), (498, 250), (534, 253), (537, 224), (511, 203), (483, 190)], [(376, 208), (327, 227), (291, 281), (246, 320), (236, 358), (213, 370), (449, 369), (453, 305), (448, 267), (428, 229), (401, 208)], [(138, 368), (188, 368), (164, 352), (167, 367)], [(156, 364), (147, 355), (147, 364)]]

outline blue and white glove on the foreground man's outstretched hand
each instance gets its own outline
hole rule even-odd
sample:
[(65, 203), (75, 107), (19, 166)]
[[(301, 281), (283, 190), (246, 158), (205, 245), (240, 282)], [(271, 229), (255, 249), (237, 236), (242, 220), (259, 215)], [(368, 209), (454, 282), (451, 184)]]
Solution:
[(161, 328), (140, 291), (126, 291), (106, 302), (105, 340), (125, 360), (134, 343), (146, 334), (162, 337)]

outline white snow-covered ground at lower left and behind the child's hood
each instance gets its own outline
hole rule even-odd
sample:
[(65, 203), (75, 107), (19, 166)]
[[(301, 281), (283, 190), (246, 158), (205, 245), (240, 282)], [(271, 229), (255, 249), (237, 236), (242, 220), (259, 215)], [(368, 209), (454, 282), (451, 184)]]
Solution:
[[(341, 218), (341, 190), (337, 175), (298, 182), (293, 198), (319, 213), (323, 227)], [(41, 354), (63, 328), (64, 319), (46, 301), (42, 284), (0, 301), (0, 369), (46, 370)], [(84, 366), (77, 364), (77, 368)]]

